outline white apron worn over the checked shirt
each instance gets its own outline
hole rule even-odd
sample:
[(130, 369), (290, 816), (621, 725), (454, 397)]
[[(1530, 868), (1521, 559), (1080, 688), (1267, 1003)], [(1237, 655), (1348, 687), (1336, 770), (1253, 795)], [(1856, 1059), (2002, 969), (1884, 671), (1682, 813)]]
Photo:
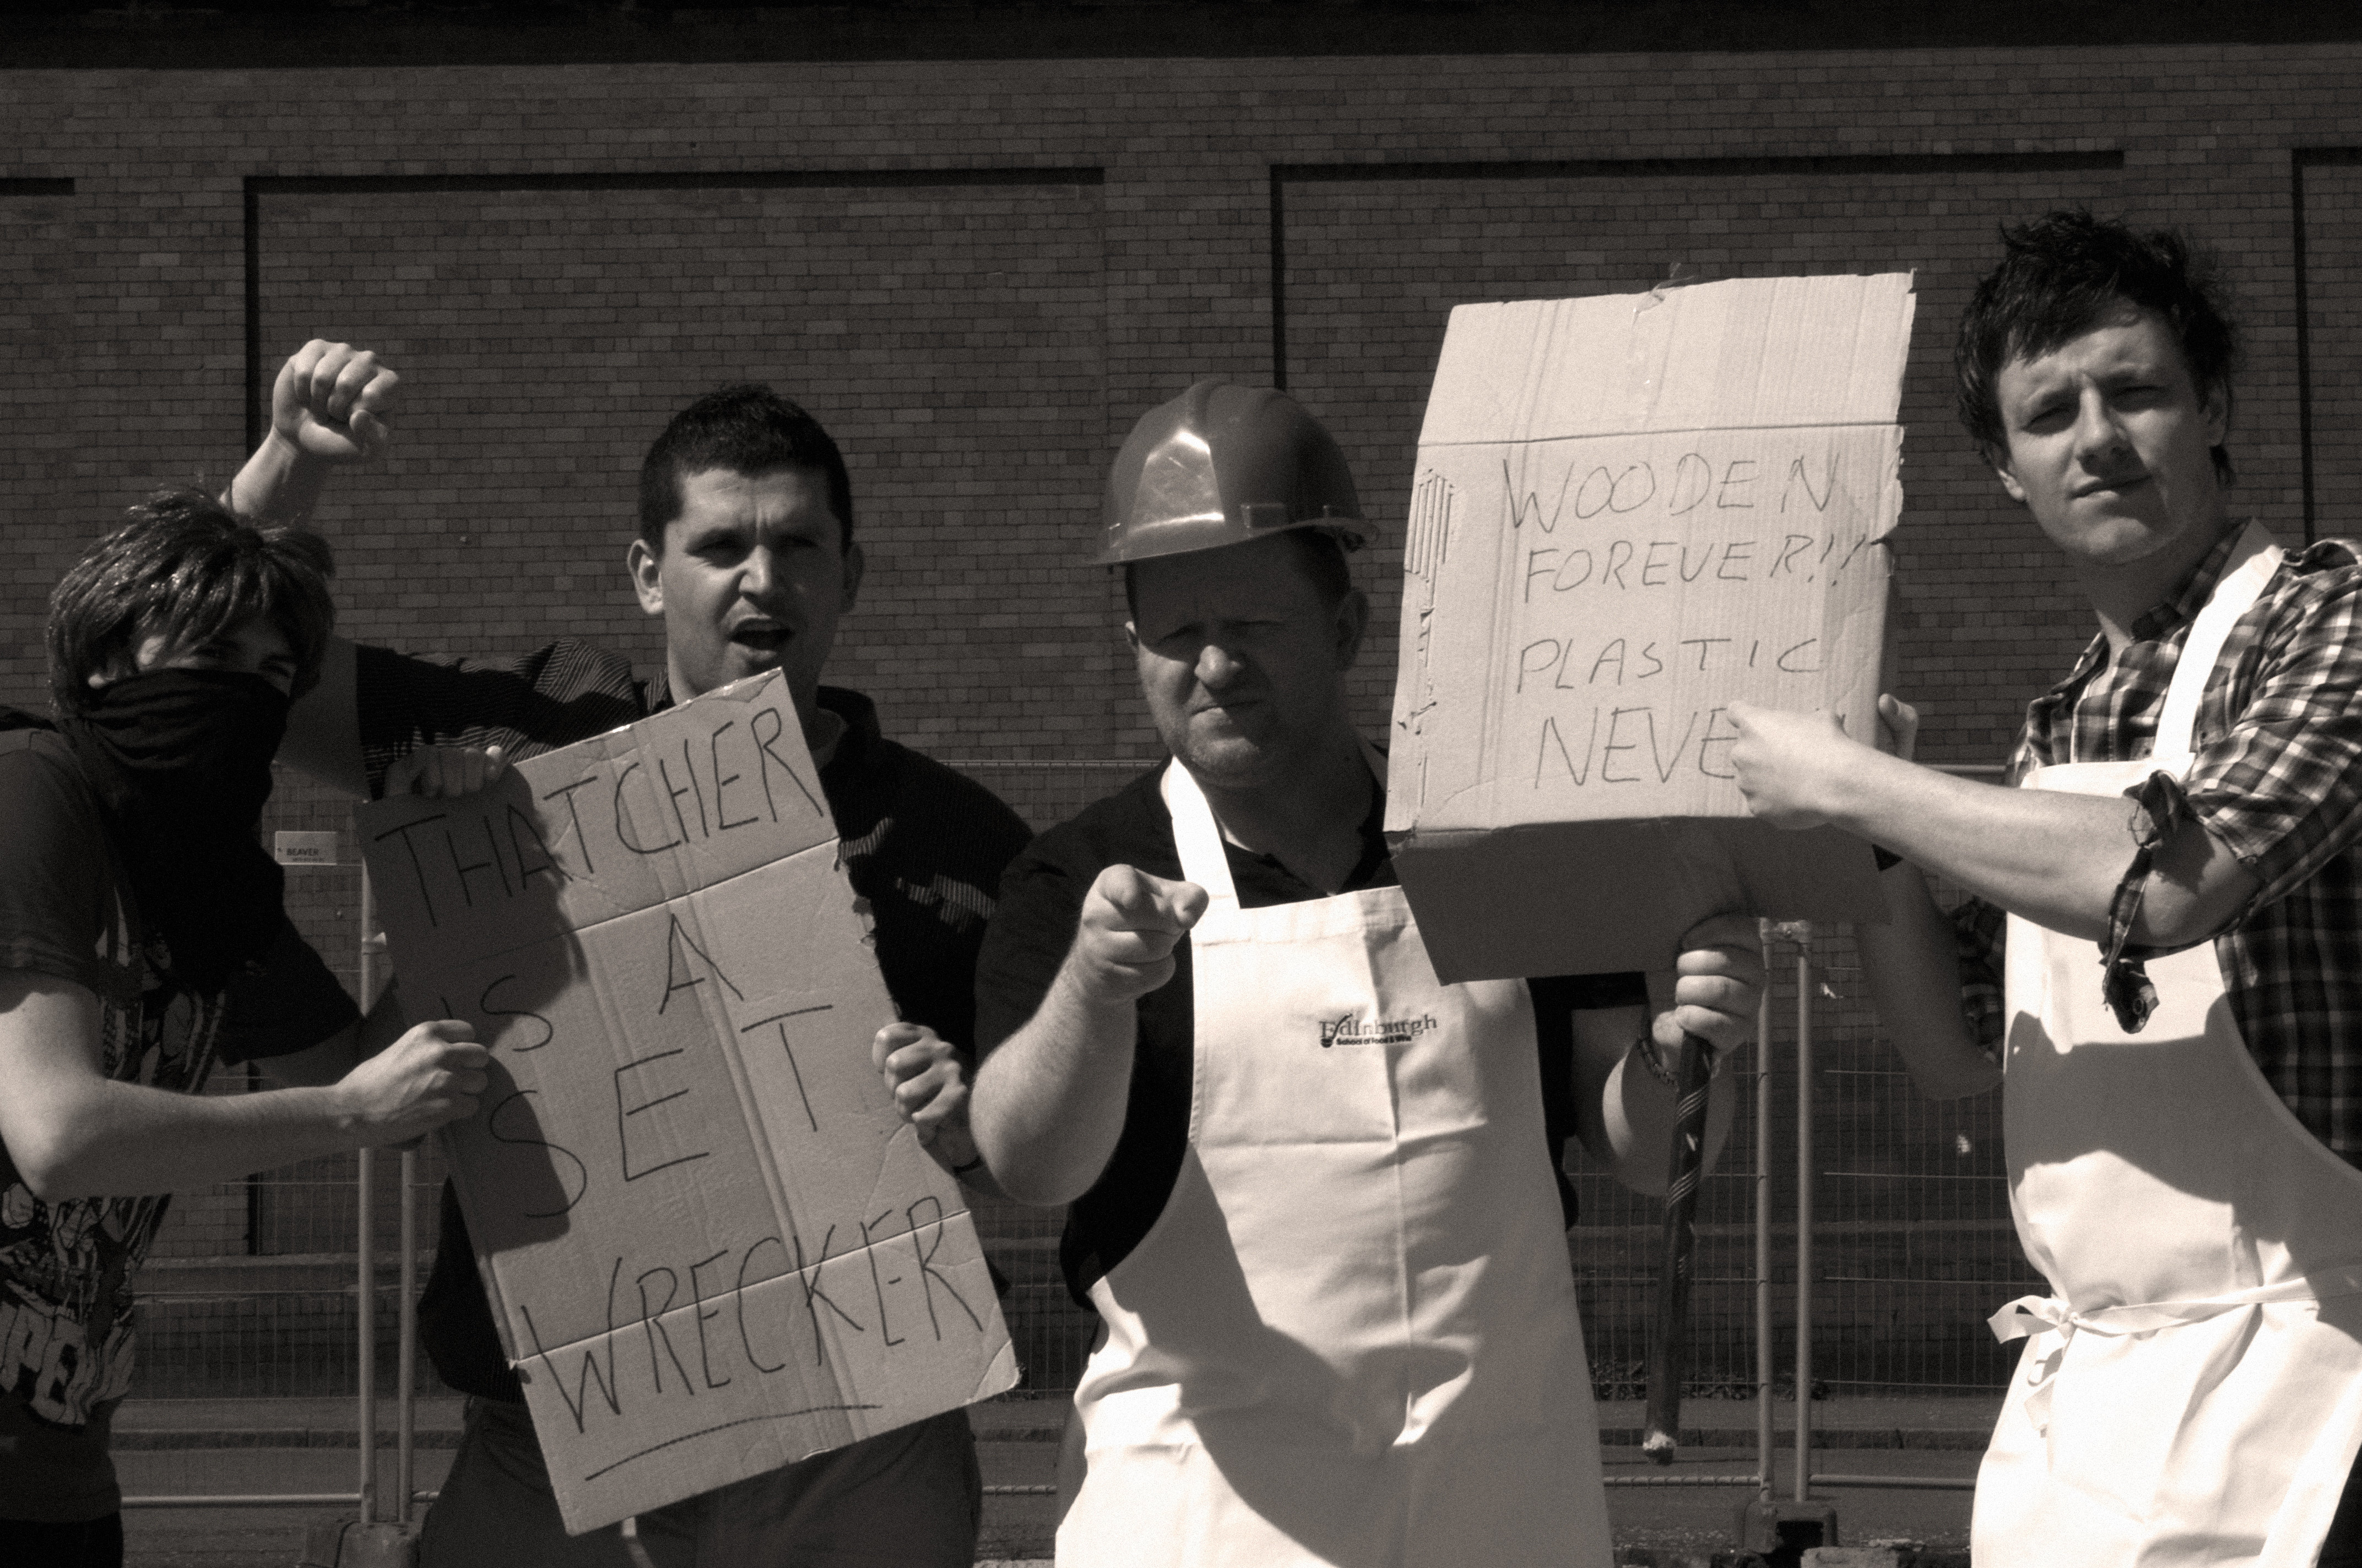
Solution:
[[(2187, 772), (2199, 694), (2277, 562), (2249, 527), (2154, 756), (2024, 786)], [(2303, 1568), (2362, 1448), (2362, 1171), (2258, 1072), (2213, 942), (2147, 971), (2157, 1011), (2126, 1034), (2093, 942), (2010, 919), (2010, 1211), (2053, 1296), (1994, 1315), (2029, 1339), (1977, 1474), (1977, 1568)]]

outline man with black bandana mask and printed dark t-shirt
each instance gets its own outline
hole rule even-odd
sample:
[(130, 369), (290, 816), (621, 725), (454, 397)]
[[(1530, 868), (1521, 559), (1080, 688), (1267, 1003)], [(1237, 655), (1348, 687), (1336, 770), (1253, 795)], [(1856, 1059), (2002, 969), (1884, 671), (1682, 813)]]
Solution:
[[(328, 545), (165, 491), (50, 595), (54, 723), (0, 708), (0, 1561), (123, 1561), (109, 1424), (168, 1193), (475, 1112), (465, 1023), (394, 1030), (288, 926), (255, 843), (319, 678)], [(236, 985), (274, 1027), (222, 1039)], [(267, 1093), (203, 1096), (222, 1060)]]

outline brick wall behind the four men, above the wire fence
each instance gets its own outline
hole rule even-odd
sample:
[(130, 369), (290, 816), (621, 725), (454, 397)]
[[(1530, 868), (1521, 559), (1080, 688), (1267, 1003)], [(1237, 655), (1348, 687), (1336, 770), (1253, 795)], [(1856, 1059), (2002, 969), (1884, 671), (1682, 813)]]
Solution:
[[(38, 694), (57, 564), (142, 486), (227, 477), (260, 383), (328, 333), (409, 375), (394, 456), (324, 512), (354, 633), (515, 652), (567, 631), (652, 661), (619, 567), (633, 465), (685, 397), (765, 378), (855, 470), (872, 579), (836, 678), (942, 756), (1146, 756), (1117, 600), (1079, 564), (1141, 409), (1195, 375), (1283, 375), (1398, 527), (1448, 305), (1642, 288), (1670, 262), (1916, 267), (1901, 671), (1930, 753), (1989, 758), (2083, 635), (1946, 411), (1951, 321), (1994, 224), (2079, 201), (2211, 239), (2251, 345), (2239, 503), (2303, 534), (2310, 413), (2312, 522), (2345, 529), (2357, 59), (0, 73), (19, 562), (0, 694)], [(1372, 723), (1396, 564), (1382, 548), (1365, 567)]]

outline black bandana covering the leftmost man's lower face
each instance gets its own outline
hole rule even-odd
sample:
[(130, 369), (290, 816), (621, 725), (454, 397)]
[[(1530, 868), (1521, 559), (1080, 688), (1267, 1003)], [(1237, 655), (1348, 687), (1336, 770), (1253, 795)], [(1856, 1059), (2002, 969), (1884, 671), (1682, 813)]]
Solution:
[(286, 919), (283, 874), (255, 843), (288, 697), (262, 675), (146, 671), (59, 720), (123, 841), (139, 916), (172, 975), (217, 989)]

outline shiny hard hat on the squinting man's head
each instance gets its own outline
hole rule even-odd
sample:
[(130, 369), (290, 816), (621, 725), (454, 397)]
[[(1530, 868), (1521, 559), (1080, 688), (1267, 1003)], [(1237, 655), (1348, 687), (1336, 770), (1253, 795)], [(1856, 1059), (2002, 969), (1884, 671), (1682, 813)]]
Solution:
[(1346, 550), (1377, 534), (1320, 420), (1285, 392), (1200, 380), (1141, 416), (1108, 475), (1101, 567), (1327, 529)]

